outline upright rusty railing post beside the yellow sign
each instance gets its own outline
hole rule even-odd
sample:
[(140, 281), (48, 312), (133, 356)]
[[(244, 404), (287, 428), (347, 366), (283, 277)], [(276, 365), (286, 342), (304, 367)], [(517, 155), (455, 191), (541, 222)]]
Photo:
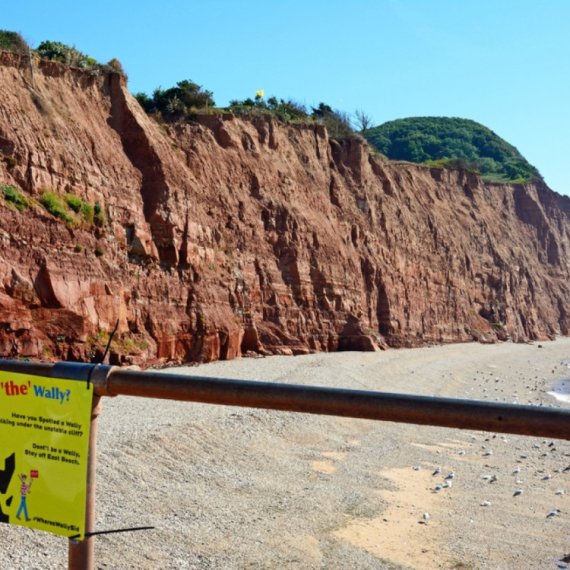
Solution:
[[(89, 430), (89, 454), (87, 457), (87, 493), (85, 498), (85, 533), (95, 530), (95, 471), (97, 468), (97, 418), (101, 413), (103, 400), (93, 395), (91, 427)], [(68, 570), (93, 570), (95, 537), (69, 541)]]

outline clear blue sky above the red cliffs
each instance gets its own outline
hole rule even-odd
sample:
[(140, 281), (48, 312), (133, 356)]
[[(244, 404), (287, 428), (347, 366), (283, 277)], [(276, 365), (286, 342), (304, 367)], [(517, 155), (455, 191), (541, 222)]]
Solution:
[(131, 92), (192, 79), (230, 99), (473, 119), (570, 195), (570, 0), (26, 0), (0, 28), (121, 61)]

